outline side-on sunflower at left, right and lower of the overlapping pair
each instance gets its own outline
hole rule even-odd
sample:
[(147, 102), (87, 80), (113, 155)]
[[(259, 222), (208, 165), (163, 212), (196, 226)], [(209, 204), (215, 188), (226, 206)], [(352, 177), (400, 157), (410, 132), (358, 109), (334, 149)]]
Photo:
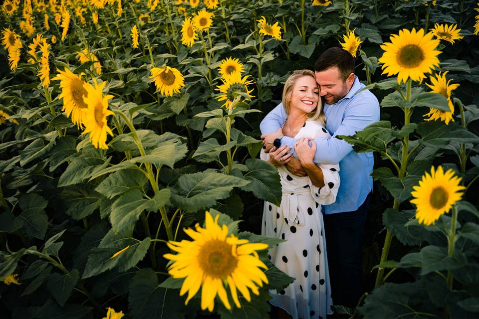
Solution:
[(83, 125), (85, 130), (81, 133), (87, 134), (90, 133), (89, 139), (93, 146), (97, 149), (108, 149), (106, 145), (106, 134), (113, 136), (108, 124), (106, 123), (106, 117), (109, 115), (114, 115), (113, 112), (108, 110), (108, 100), (113, 97), (113, 95), (103, 96), (103, 88), (105, 87), (106, 82), (98, 83), (95, 80), (95, 86), (90, 83), (85, 83), (84, 88), (87, 91), (87, 95), (83, 97), (83, 102), (88, 106), (83, 115)]

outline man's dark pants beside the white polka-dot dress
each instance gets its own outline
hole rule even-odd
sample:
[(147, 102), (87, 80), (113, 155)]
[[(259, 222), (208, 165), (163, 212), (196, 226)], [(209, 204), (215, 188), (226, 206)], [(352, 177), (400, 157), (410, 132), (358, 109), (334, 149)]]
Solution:
[(361, 240), (370, 197), (355, 211), (323, 214), (334, 305), (354, 308), (363, 294)]

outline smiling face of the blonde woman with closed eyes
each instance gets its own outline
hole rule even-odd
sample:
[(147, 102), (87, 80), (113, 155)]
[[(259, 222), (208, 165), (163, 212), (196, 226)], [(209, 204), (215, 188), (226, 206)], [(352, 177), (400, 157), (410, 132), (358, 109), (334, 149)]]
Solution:
[(289, 99), (289, 108), (311, 113), (318, 105), (318, 101), (319, 88), (316, 80), (309, 75), (297, 79)]

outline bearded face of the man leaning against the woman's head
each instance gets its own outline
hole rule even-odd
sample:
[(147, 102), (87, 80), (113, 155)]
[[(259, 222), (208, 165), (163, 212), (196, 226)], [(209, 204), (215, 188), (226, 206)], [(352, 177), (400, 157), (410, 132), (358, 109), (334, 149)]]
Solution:
[(316, 82), (320, 88), (320, 96), (327, 104), (334, 104), (348, 94), (354, 82), (354, 73), (343, 80), (339, 69), (334, 66), (324, 71), (316, 71)]

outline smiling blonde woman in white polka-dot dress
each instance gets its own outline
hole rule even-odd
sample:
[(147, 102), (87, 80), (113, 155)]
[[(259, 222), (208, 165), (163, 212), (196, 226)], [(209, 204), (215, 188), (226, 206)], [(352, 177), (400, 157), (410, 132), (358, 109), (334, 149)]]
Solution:
[(329, 137), (314, 72), (294, 71), (284, 84), (282, 103), (288, 113), (282, 133), (299, 139), (294, 151), (308, 175), (289, 173), (284, 164), (292, 154), (286, 146), (272, 148), (269, 154), (261, 151), (261, 159), (278, 168), (282, 187), (279, 207), (264, 204), (261, 234), (286, 240), (271, 248), (268, 256), (276, 267), (296, 278), (284, 291), (271, 291), (271, 304), (292, 318), (325, 319), (332, 313), (332, 301), (321, 205), (336, 199), (339, 165), (313, 163), (316, 146), (310, 140)]

